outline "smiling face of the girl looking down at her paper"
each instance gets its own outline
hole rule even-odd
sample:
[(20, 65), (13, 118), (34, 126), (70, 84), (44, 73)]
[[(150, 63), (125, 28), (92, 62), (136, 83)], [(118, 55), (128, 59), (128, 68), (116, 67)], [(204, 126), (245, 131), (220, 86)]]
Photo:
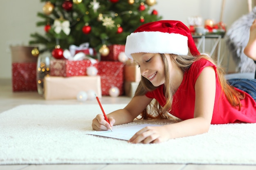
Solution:
[[(141, 75), (153, 86), (164, 84), (164, 65), (158, 53), (133, 53), (132, 58), (140, 68)], [(168, 60), (169, 61), (169, 60)]]

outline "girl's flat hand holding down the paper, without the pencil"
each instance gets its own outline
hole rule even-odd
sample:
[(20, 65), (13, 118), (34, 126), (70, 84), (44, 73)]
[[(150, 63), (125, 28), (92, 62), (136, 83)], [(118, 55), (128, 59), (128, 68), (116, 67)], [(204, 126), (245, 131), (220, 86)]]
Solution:
[(143, 143), (161, 143), (170, 139), (168, 128), (166, 126), (147, 126), (139, 130), (133, 137), (128, 141), (133, 144)]

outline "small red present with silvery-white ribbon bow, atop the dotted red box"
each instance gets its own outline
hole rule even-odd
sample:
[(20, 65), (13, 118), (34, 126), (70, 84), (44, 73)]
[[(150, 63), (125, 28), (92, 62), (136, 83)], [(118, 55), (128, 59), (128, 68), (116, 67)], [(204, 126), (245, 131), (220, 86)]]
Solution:
[(85, 53), (85, 55), (95, 56), (97, 52), (93, 48), (89, 48), (89, 43), (85, 42), (81, 44), (80, 46), (70, 45), (69, 51), (72, 56), (79, 52)]

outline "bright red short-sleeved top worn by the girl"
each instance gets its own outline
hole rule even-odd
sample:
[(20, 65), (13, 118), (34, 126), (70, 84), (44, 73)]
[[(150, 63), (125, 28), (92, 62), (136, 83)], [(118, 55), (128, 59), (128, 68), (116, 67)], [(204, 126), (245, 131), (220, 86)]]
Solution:
[[(241, 110), (239, 111), (237, 108), (232, 107), (225, 93), (222, 92), (216, 66), (206, 59), (194, 62), (189, 70), (184, 73), (182, 83), (173, 96), (171, 114), (182, 120), (193, 118), (195, 108), (195, 82), (206, 66), (213, 66), (216, 73), (216, 97), (211, 124), (256, 123), (256, 102), (254, 99), (248, 93), (245, 93), (245, 99), (241, 100)], [(163, 87), (163, 85), (159, 86), (154, 91), (146, 93), (146, 96), (155, 98), (161, 106), (164, 106), (166, 100)], [(239, 89), (237, 90), (240, 91)]]

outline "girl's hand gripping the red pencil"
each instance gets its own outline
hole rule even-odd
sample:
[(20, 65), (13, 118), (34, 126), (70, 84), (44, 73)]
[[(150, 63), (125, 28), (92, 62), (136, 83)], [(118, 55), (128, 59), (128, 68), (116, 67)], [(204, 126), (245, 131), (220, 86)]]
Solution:
[(97, 115), (93, 120), (92, 120), (92, 129), (93, 130), (109, 130), (110, 127), (113, 127), (113, 124), (115, 123), (115, 119), (113, 117), (108, 117), (108, 120), (110, 124), (104, 119), (104, 116), (102, 114)]

